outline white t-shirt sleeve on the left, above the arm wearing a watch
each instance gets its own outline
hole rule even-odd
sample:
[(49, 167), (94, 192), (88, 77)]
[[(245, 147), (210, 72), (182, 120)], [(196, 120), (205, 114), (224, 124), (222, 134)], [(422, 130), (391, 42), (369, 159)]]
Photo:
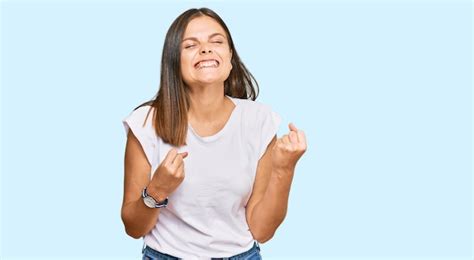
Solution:
[(153, 165), (156, 158), (156, 135), (152, 122), (153, 112), (150, 111), (150, 108), (150, 106), (137, 108), (125, 117), (122, 123), (125, 128), (125, 135), (128, 136), (128, 131), (132, 130), (132, 133), (140, 142), (148, 162)]

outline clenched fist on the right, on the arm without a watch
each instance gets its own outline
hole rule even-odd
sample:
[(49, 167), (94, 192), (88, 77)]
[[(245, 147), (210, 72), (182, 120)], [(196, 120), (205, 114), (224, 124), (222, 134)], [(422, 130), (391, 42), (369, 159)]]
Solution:
[(299, 130), (288, 124), (290, 132), (276, 140), (272, 150), (272, 163), (274, 169), (293, 171), (296, 163), (306, 151), (306, 136), (303, 130)]

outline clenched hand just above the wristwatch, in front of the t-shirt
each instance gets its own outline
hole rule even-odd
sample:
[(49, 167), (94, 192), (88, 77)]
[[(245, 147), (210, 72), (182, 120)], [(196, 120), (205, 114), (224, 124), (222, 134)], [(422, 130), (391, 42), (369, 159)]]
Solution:
[(187, 152), (178, 153), (174, 148), (166, 154), (148, 185), (147, 192), (157, 201), (166, 199), (184, 180), (184, 158)]

